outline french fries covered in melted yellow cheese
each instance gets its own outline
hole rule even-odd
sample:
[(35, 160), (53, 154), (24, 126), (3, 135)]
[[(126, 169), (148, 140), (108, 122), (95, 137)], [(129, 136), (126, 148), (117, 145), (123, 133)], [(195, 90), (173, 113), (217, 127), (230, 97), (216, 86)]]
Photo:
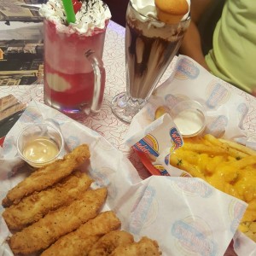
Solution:
[(239, 229), (256, 241), (256, 152), (210, 134), (183, 141), (183, 147), (171, 155), (170, 164), (246, 201)]

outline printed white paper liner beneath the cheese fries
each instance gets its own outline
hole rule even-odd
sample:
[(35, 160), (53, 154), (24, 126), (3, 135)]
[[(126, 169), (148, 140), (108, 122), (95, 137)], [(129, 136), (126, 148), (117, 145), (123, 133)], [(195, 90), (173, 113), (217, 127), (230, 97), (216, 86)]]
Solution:
[[(208, 73), (189, 57), (179, 55), (172, 75), (154, 91), (146, 106), (137, 113), (125, 136), (125, 143), (138, 150), (140, 147), (137, 144), (143, 140), (149, 140), (148, 148), (157, 148), (158, 157), (154, 158), (148, 148), (148, 152), (145, 149), (141, 151), (148, 154), (148, 159), (161, 175), (186, 176), (182, 170), (169, 164), (168, 154), (172, 154), (173, 150), (170, 131), (176, 126), (168, 113), (154, 120), (155, 111), (161, 106), (172, 109), (177, 102), (188, 99), (200, 102), (206, 109), (207, 126), (203, 134), (210, 133), (256, 149), (256, 125), (253, 121), (256, 119), (255, 97)], [(221, 204), (215, 203), (218, 207)], [(212, 219), (215, 218), (213, 216)], [(234, 240), (238, 255), (256, 253), (256, 243), (247, 236), (236, 236)]]

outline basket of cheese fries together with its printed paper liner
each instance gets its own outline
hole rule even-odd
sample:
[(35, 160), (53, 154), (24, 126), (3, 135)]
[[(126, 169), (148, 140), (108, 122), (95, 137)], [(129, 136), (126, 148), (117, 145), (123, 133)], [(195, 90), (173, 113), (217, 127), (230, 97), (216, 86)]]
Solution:
[[(204, 129), (191, 137), (183, 136), (172, 116), (177, 104), (189, 101), (200, 102), (206, 114)], [(243, 253), (256, 252), (255, 108), (253, 96), (181, 55), (172, 76), (137, 113), (125, 139), (152, 175), (200, 178), (246, 202), (237, 230), (247, 237), (245, 244), (253, 246)], [(200, 125), (195, 116), (188, 118), (183, 120), (186, 131)], [(235, 241), (235, 247), (241, 243)]]

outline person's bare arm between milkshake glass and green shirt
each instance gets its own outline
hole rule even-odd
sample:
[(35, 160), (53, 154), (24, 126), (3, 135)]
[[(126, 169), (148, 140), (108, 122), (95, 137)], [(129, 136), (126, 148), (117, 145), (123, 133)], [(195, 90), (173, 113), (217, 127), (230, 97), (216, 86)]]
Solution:
[(189, 29), (183, 38), (183, 44), (179, 49), (179, 53), (187, 55), (201, 64), (202, 67), (207, 68), (207, 62), (205, 61), (205, 56), (203, 55), (201, 48), (201, 37), (197, 28), (197, 24), (201, 19), (201, 16), (209, 8), (212, 1), (214, 0), (191, 0), (190, 3), (190, 14), (191, 22)]

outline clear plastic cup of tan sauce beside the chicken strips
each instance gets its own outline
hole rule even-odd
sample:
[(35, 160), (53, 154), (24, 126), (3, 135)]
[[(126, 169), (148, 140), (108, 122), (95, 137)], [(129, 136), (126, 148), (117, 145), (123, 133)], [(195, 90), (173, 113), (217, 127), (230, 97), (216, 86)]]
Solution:
[(62, 148), (61, 131), (47, 123), (28, 125), (17, 138), (18, 154), (30, 166), (36, 168), (56, 160)]

